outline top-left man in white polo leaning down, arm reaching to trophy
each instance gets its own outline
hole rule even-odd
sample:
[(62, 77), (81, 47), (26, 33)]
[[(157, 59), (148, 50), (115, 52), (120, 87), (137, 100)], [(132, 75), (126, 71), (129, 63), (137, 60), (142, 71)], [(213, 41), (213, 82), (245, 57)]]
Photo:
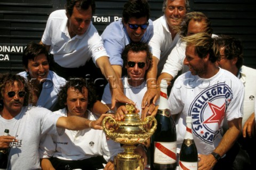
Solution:
[(110, 65), (102, 38), (92, 24), (94, 0), (67, 0), (65, 7), (66, 10), (57, 10), (50, 14), (40, 42), (53, 54), (50, 69), (65, 79), (89, 75), (94, 76), (93, 80), (98, 80), (99, 77), (95, 77), (98, 75), (97, 69), (92, 68), (92, 64), (86, 64), (92, 58), (113, 87), (113, 108), (116, 102), (133, 103), (126, 98), (116, 81), (117, 77)]

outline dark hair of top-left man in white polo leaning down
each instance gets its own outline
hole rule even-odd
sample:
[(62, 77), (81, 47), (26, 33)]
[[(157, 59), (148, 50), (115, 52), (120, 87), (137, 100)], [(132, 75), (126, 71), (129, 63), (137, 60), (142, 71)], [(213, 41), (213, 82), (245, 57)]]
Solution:
[(87, 10), (91, 6), (92, 8), (92, 14), (95, 13), (96, 5), (94, 0), (67, 0), (67, 3), (65, 4), (66, 13), (70, 16), (73, 14), (73, 9), (76, 7), (76, 9), (79, 10)]

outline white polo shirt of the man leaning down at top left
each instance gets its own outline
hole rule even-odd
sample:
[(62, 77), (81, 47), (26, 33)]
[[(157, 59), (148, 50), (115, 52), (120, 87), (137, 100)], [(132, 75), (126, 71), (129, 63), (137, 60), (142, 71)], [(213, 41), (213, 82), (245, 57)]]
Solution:
[(50, 53), (54, 61), (66, 68), (84, 66), (90, 58), (93, 62), (101, 56), (108, 56), (103, 41), (92, 22), (85, 32), (70, 38), (67, 28), (68, 18), (65, 10), (57, 10), (50, 14), (42, 37), (45, 45), (51, 45)]

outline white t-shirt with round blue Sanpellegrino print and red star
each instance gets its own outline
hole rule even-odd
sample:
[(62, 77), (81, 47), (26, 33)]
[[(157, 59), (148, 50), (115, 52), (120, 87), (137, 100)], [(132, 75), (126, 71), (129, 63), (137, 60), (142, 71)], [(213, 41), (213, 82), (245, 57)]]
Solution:
[(169, 97), (171, 114), (179, 114), (177, 150), (186, 133), (186, 117), (192, 117), (193, 137), (198, 153), (207, 155), (220, 143), (223, 119), (243, 117), (244, 86), (231, 72), (220, 68), (209, 79), (191, 75), (179, 76)]

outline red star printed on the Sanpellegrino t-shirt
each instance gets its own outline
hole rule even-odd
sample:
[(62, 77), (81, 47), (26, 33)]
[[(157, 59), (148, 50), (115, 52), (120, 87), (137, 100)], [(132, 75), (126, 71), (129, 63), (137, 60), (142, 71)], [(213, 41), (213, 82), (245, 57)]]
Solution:
[(226, 104), (224, 103), (221, 107), (218, 107), (210, 102), (207, 103), (209, 104), (209, 107), (211, 108), (213, 115), (206, 119), (203, 123), (218, 123), (220, 127), (220, 124), (224, 119)]

